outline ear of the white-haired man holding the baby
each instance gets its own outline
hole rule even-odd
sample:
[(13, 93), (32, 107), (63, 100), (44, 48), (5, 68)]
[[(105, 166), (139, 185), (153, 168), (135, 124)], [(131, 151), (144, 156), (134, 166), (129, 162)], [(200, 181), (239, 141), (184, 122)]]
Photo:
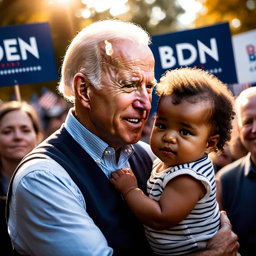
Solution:
[(83, 106), (90, 108), (90, 82), (82, 73), (76, 73), (73, 79), (75, 99)]

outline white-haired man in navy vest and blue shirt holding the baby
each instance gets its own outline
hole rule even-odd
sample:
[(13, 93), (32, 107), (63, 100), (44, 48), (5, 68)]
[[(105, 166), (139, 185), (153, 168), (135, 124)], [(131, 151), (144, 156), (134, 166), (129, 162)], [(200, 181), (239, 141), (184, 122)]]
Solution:
[[(155, 84), (149, 43), (143, 29), (118, 20), (95, 22), (72, 40), (58, 89), (75, 108), (10, 184), (8, 227), (20, 254), (152, 254), (142, 224), (109, 181), (128, 167), (146, 191), (155, 157), (139, 141)], [(236, 235), (224, 214), (221, 220), (207, 251), (195, 255), (236, 255)]]

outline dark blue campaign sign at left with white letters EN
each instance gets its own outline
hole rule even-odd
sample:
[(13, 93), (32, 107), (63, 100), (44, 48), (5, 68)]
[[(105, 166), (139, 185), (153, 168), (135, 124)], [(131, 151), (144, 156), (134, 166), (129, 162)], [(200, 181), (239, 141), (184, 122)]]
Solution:
[(0, 87), (57, 79), (48, 23), (0, 27)]

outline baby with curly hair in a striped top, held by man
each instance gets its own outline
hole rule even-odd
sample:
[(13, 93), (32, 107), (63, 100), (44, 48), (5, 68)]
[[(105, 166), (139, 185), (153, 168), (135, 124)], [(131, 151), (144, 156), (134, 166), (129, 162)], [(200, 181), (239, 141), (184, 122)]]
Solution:
[(219, 228), (211, 151), (230, 140), (233, 96), (217, 77), (197, 68), (168, 70), (156, 87), (159, 101), (150, 137), (158, 157), (145, 195), (130, 169), (110, 181), (144, 223), (155, 254), (204, 249)]

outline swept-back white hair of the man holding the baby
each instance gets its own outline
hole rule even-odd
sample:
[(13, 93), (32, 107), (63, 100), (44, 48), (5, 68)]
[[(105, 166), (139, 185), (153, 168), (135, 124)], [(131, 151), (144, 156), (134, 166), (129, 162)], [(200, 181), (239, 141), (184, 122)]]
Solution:
[(67, 100), (74, 102), (73, 78), (77, 72), (83, 73), (95, 88), (102, 88), (99, 43), (104, 40), (113, 42), (120, 39), (145, 45), (151, 43), (149, 34), (132, 22), (106, 19), (83, 28), (66, 50), (58, 84), (59, 93)]

